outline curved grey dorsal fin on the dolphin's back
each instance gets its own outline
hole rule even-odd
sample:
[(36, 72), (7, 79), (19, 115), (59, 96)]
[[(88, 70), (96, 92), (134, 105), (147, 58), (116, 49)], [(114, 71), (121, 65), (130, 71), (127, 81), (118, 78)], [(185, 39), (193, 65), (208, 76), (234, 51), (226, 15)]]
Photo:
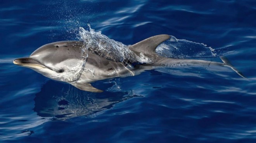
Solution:
[(170, 36), (166, 34), (149, 37), (143, 41), (131, 45), (129, 48), (132, 51), (142, 52), (145, 54), (155, 53), (156, 47), (163, 41), (169, 39)]

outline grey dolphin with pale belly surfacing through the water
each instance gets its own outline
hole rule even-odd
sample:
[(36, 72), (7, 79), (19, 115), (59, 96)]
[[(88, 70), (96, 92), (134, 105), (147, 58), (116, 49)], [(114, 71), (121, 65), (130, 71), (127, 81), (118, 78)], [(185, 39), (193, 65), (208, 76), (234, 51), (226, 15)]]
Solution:
[[(158, 66), (217, 65), (232, 68), (245, 78), (227, 58), (223, 63), (206, 60), (166, 58), (155, 52), (156, 47), (170, 36), (161, 34), (128, 46), (128, 58), (119, 59), (117, 54), (92, 50), (84, 41), (60, 41), (45, 44), (28, 58), (13, 61), (15, 65), (31, 68), (45, 77), (70, 83), (80, 90), (102, 92), (90, 83), (114, 77), (135, 76)], [(87, 46), (87, 47), (86, 47)], [(145, 59), (148, 60), (138, 60)]]

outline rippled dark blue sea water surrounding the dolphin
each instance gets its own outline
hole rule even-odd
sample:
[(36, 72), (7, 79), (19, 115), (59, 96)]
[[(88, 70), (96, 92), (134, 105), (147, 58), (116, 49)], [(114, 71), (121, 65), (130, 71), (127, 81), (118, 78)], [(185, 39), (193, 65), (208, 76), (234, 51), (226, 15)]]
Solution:
[[(91, 93), (12, 63), (77, 40), (87, 24), (124, 44), (157, 34), (207, 44), (216, 56), (195, 45), (168, 55), (225, 54), (248, 80), (185, 66), (98, 81), (105, 92)], [(256, 142), (255, 0), (2, 0), (0, 38), (1, 143)]]

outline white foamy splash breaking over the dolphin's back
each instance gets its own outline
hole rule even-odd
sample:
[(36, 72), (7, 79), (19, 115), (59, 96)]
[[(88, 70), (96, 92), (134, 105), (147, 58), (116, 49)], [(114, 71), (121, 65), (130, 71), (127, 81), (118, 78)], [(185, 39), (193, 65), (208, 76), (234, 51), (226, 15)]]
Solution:
[(101, 34), (101, 31), (95, 32), (88, 24), (89, 30), (85, 30), (83, 27), (79, 28), (79, 39), (84, 41), (85, 46), (93, 53), (99, 56), (105, 57), (107, 60), (123, 62), (129, 60), (137, 63), (150, 63), (151, 60), (145, 55), (138, 56), (133, 53), (127, 45), (114, 41), (106, 35)]

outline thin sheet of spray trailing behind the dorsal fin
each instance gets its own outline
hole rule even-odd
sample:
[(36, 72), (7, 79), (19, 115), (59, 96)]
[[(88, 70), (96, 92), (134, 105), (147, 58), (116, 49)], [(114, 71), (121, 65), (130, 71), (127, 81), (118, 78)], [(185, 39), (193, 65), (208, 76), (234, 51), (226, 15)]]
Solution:
[(156, 53), (168, 58), (212, 58), (217, 56), (215, 49), (206, 44), (196, 43), (185, 39), (170, 39), (159, 44)]

